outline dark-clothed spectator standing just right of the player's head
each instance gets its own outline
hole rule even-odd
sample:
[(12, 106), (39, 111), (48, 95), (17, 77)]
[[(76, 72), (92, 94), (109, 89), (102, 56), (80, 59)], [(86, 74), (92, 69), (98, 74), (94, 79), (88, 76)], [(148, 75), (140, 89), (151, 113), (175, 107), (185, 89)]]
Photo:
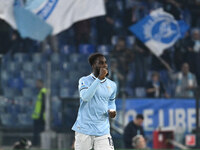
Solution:
[(119, 92), (124, 89), (126, 77), (129, 71), (129, 64), (133, 61), (134, 54), (126, 47), (125, 39), (119, 38), (114, 49), (111, 51), (111, 58), (117, 61), (117, 69), (123, 78), (119, 78)]

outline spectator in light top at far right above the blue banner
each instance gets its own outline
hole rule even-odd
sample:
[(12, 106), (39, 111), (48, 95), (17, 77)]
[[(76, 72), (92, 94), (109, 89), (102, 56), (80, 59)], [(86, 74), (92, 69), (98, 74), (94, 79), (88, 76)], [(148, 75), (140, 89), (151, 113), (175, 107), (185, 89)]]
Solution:
[(197, 81), (194, 74), (190, 72), (189, 64), (182, 65), (182, 71), (177, 74), (170, 73), (170, 77), (176, 81), (175, 96), (182, 98), (193, 98), (194, 88), (197, 87)]

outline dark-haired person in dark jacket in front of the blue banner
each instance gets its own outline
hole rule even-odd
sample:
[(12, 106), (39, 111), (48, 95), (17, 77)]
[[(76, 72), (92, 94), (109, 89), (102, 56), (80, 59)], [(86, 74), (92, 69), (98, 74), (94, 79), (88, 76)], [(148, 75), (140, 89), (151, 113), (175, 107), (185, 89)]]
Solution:
[(125, 148), (134, 148), (132, 145), (133, 137), (136, 135), (142, 135), (144, 137), (144, 129), (142, 127), (142, 123), (144, 121), (144, 117), (142, 114), (138, 114), (134, 121), (128, 123), (128, 125), (124, 129), (124, 146)]

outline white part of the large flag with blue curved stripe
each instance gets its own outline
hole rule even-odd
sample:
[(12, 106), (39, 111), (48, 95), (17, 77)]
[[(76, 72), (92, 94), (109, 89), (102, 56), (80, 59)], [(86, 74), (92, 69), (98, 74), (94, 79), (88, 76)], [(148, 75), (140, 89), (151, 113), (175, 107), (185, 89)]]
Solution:
[(103, 0), (34, 0), (25, 6), (53, 27), (57, 34), (73, 23), (105, 15)]

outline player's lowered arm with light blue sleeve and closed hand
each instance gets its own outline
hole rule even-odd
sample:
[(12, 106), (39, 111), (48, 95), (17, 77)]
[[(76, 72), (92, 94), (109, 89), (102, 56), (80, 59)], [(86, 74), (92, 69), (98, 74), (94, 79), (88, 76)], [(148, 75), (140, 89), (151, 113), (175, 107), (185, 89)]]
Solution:
[(116, 116), (116, 104), (115, 104), (115, 98), (116, 98), (116, 94), (117, 94), (117, 86), (116, 84), (114, 84), (114, 86), (112, 87), (114, 90), (113, 90), (113, 93), (109, 99), (109, 102), (108, 102), (108, 113), (109, 113), (109, 117), (110, 118), (115, 118)]

